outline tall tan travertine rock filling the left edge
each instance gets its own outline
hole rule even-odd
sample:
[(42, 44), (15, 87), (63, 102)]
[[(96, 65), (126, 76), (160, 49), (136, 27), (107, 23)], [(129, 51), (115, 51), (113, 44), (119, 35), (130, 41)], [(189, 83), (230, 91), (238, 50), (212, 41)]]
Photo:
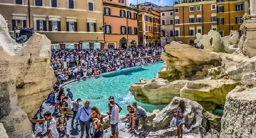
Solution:
[(0, 15), (0, 122), (10, 138), (30, 138), (30, 119), (56, 82), (50, 40), (35, 33), (17, 44)]

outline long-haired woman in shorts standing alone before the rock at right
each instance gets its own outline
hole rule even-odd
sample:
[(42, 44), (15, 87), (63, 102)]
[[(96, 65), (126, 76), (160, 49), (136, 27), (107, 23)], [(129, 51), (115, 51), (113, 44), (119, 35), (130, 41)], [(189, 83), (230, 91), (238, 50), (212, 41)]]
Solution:
[(175, 110), (175, 117), (177, 119), (176, 125), (177, 125), (177, 131), (178, 131), (178, 138), (182, 138), (183, 135), (183, 118), (184, 118), (184, 113), (186, 110), (185, 102), (183, 100), (180, 100), (180, 103)]

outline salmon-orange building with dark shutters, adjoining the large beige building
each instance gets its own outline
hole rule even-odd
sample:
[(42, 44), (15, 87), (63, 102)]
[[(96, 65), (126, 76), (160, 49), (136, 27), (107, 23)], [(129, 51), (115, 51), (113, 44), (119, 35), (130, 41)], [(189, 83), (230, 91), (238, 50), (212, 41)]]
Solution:
[(138, 11), (126, 6), (126, 0), (104, 0), (105, 48), (138, 45)]

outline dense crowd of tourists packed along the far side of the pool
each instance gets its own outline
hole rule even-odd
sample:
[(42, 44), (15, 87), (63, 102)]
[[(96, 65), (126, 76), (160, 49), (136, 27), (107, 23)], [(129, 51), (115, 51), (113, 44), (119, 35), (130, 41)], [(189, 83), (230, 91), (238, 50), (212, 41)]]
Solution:
[(59, 83), (161, 61), (164, 47), (129, 49), (52, 49), (51, 66)]

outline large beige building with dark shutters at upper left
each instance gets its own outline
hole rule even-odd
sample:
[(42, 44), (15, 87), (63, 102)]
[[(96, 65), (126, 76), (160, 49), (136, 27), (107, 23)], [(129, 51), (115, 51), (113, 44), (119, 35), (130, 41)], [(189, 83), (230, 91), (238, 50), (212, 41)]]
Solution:
[(0, 13), (15, 26), (46, 35), (55, 49), (104, 47), (102, 0), (0, 0)]

